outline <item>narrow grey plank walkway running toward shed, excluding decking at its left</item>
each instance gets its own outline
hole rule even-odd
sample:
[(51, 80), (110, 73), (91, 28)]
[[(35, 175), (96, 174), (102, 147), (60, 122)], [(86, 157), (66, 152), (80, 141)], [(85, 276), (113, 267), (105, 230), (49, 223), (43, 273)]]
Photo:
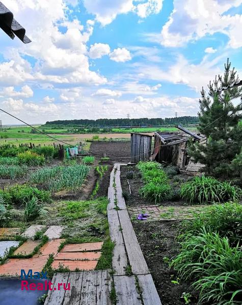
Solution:
[[(122, 196), (121, 165), (126, 164), (116, 163), (111, 172), (107, 207), (110, 235), (115, 242), (112, 264), (117, 304), (162, 305)], [(125, 275), (127, 266), (131, 266), (132, 276)]]

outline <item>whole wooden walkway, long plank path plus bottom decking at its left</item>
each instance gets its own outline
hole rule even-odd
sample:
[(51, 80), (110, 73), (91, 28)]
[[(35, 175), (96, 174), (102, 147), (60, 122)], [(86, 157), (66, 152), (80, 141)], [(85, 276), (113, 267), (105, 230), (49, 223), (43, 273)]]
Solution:
[[(44, 305), (111, 305), (112, 286), (116, 305), (162, 305), (122, 196), (121, 165), (126, 164), (114, 165), (108, 191), (107, 219), (115, 243), (113, 275), (110, 270), (55, 273), (52, 287), (57, 289), (48, 292)], [(131, 267), (131, 276), (126, 275), (127, 267)], [(67, 288), (69, 284), (70, 290), (64, 290), (63, 285), (58, 290), (59, 283)]]

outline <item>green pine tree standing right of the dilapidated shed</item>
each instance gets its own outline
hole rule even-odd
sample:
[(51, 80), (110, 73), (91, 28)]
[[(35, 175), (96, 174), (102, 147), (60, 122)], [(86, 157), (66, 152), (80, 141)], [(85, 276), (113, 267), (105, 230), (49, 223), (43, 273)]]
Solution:
[[(235, 69), (231, 69), (229, 59), (223, 76), (216, 76), (208, 84), (208, 96), (202, 88), (199, 100), (199, 131), (207, 138), (207, 144), (191, 144), (189, 154), (195, 162), (205, 165), (208, 174), (227, 176), (231, 162), (242, 146), (241, 98), (242, 88), (233, 87), (218, 93), (223, 87), (238, 82)], [(236, 106), (235, 106), (236, 104)]]

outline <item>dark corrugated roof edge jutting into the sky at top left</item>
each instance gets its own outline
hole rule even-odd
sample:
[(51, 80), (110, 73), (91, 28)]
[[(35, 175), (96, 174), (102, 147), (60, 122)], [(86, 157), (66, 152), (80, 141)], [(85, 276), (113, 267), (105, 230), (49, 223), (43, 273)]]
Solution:
[(0, 1), (0, 27), (12, 39), (15, 35), (23, 42), (30, 43), (31, 40), (25, 35), (25, 28), (23, 28), (14, 18), (13, 13), (6, 8)]

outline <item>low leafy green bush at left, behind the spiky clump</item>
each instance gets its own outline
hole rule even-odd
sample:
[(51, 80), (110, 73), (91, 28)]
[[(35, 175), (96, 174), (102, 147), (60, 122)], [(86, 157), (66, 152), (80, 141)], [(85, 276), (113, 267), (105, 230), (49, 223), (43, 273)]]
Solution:
[(31, 200), (33, 197), (37, 198), (40, 202), (51, 202), (50, 193), (47, 191), (38, 190), (29, 185), (16, 185), (8, 189), (11, 196), (11, 201), (14, 204), (22, 205), (26, 201)]

